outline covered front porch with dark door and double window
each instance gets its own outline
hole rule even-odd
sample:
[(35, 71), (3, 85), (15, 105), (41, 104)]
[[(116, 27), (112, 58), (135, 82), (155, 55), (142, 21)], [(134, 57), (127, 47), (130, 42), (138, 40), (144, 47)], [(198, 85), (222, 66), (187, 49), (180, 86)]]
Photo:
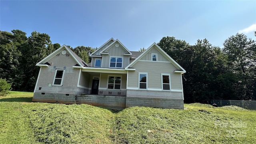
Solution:
[(78, 87), (81, 95), (126, 96), (127, 71), (112, 68), (83, 68)]

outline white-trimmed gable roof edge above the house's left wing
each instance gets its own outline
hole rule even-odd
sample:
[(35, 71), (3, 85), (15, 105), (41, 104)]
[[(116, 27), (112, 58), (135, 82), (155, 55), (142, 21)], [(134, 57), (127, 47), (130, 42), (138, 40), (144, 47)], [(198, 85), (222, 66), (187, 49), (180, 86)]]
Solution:
[[(60, 53), (62, 50), (66, 49), (68, 51), (68, 53), (74, 58), (74, 60), (78, 63), (78, 67), (88, 67), (89, 65), (86, 64), (86, 62), (84, 62), (84, 60), (82, 60), (78, 55), (76, 55), (70, 48), (68, 48), (65, 44), (62, 45), (60, 48), (58, 48), (57, 50), (55, 50), (54, 52), (52, 52), (51, 54), (49, 54), (48, 56), (46, 56), (44, 59), (42, 59), (40, 62), (38, 62), (36, 64), (36, 66), (49, 66), (47, 63), (48, 60), (50, 60), (52, 57), (56, 56), (56, 54)], [(42, 62), (46, 62), (44, 64), (42, 64)]]

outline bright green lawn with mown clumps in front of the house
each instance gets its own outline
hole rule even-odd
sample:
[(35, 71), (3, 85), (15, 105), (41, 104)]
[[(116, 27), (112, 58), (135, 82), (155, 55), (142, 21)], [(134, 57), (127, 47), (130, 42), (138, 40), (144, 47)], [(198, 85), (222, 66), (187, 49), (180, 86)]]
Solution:
[(0, 97), (0, 144), (253, 144), (256, 111), (185, 104), (185, 110), (31, 102), (33, 93)]

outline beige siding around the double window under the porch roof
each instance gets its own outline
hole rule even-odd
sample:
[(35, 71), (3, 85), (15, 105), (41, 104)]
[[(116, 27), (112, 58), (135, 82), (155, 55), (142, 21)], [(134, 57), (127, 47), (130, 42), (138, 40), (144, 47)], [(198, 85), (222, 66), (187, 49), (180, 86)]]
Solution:
[(111, 73), (102, 73), (100, 76), (100, 88), (108, 88), (108, 76), (122, 76), (121, 79), (121, 88), (126, 89), (126, 74), (111, 74)]

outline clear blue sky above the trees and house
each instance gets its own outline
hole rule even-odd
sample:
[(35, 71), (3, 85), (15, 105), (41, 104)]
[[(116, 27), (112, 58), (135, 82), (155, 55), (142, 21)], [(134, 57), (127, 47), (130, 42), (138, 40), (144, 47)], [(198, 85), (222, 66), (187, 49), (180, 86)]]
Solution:
[(256, 0), (251, 1), (6, 1), (0, 30), (46, 33), (52, 43), (99, 47), (110, 38), (129, 50), (148, 48), (164, 36), (222, 47), (242, 32), (256, 39)]

